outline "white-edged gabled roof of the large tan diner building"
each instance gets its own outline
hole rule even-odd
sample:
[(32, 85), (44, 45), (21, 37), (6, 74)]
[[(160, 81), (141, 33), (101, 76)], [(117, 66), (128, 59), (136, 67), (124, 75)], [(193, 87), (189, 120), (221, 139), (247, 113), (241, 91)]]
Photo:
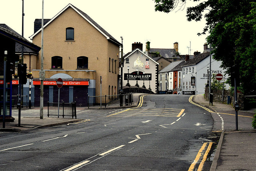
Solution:
[[(72, 4), (68, 4), (65, 8), (63, 8), (56, 16), (54, 16), (49, 22), (47, 22), (44, 25), (44, 28), (48, 26), (48, 24), (50, 24), (55, 18), (57, 18), (60, 14), (62, 14), (62, 12), (64, 12), (66, 9), (68, 8), (72, 8), (74, 9), (78, 14), (80, 14), (80, 16), (82, 16), (86, 21), (88, 21), (92, 26), (94, 26), (94, 28), (96, 28), (101, 34), (103, 34), (108, 40), (114, 42), (115, 44), (118, 44), (119, 46), (121, 46), (122, 44), (120, 42), (118, 42), (113, 36), (111, 36), (108, 32), (106, 32), (106, 30), (104, 30), (100, 25), (98, 25), (94, 20), (92, 20), (92, 18), (90, 18), (86, 13), (82, 12), (81, 10), (79, 10), (78, 8), (76, 8), (75, 6), (73, 6)], [(36, 36), (36, 34), (38, 34), (39, 32), (41, 32), (42, 28), (40, 28), (36, 33), (34, 33), (32, 36), (30, 36), (30, 38), (33, 38), (34, 36)]]

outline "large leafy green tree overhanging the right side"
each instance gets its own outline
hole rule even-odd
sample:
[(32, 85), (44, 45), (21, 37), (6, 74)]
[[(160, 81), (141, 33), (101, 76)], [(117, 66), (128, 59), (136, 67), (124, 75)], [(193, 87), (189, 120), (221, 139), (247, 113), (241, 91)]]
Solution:
[[(178, 4), (184, 6), (188, 0), (154, 1), (156, 11), (168, 13), (177, 8)], [(238, 65), (240, 86), (244, 93), (256, 94), (255, 0), (205, 0), (186, 10), (188, 21), (200, 21), (204, 16), (206, 26), (198, 35), (210, 33), (207, 42), (215, 48), (213, 58), (222, 61), (221, 67), (229, 75), (230, 68), (234, 64)]]

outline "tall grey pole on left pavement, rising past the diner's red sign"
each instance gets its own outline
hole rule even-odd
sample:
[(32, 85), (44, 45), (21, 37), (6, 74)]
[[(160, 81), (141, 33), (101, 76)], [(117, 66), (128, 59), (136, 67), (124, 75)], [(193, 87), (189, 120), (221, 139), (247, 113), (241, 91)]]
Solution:
[(41, 70), (40, 70), (40, 119), (44, 118), (44, 0), (42, 0), (42, 31), (41, 31)]

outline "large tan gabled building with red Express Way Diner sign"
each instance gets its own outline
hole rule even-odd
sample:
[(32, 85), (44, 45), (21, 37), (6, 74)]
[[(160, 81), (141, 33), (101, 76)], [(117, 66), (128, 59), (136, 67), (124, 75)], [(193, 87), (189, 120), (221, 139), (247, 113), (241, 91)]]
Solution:
[[(30, 38), (41, 46), (42, 30), (36, 29), (38, 23), (35, 22), (35, 32)], [(44, 24), (44, 105), (47, 101), (56, 102), (56, 78), (63, 80), (61, 101), (76, 101), (77, 106), (86, 106), (88, 95), (100, 95), (100, 76), (102, 95), (118, 94), (120, 46), (92, 18), (68, 4)], [(34, 77), (35, 105), (40, 99), (40, 63), (41, 52), (28, 65)]]

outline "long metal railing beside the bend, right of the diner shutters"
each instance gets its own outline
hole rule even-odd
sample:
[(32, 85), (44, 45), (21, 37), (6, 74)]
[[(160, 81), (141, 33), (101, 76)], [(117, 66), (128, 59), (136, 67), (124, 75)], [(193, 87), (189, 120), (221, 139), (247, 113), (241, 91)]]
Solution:
[(88, 96), (88, 108), (93, 106), (111, 106), (111, 105), (132, 105), (133, 95), (119, 94), (119, 95), (98, 95)]

